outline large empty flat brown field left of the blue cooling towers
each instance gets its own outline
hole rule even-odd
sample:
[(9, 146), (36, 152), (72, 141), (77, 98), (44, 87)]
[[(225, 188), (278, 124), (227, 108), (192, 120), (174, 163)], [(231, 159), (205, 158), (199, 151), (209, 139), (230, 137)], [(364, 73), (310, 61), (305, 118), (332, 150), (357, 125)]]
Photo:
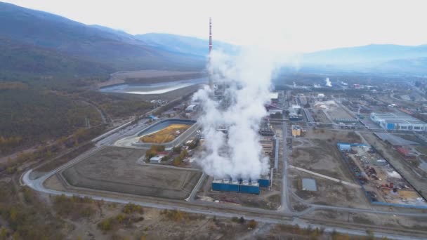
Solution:
[(72, 187), (166, 199), (185, 199), (202, 173), (138, 161), (144, 150), (107, 147), (60, 173)]

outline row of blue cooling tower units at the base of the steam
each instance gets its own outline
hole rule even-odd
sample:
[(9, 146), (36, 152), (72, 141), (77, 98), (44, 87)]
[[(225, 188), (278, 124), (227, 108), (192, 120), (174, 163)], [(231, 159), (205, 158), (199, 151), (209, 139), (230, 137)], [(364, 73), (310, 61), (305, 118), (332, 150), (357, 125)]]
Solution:
[(261, 177), (258, 180), (214, 179), (211, 187), (213, 191), (259, 194), (260, 187), (270, 187), (270, 179), (268, 177)]

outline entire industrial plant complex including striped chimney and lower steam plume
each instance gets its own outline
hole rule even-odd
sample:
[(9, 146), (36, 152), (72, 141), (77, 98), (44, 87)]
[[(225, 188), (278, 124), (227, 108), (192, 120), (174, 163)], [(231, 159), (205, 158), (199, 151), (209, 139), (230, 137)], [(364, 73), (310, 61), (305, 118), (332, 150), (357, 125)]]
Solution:
[(151, 90), (145, 114), (87, 140), (74, 159), (30, 169), (16, 182), (164, 208), (158, 217), (168, 221), (194, 211), (232, 218), (245, 231), (244, 218), (265, 218), (316, 229), (328, 222), (330, 232), (348, 225), (366, 234), (376, 225), (426, 236), (421, 93), (419, 102), (403, 101), (396, 93), (405, 98), (405, 84), (325, 74), (272, 84), (268, 60), (251, 49), (244, 58), (213, 49), (209, 19), (209, 66), (189, 93), (166, 98), (171, 93)]

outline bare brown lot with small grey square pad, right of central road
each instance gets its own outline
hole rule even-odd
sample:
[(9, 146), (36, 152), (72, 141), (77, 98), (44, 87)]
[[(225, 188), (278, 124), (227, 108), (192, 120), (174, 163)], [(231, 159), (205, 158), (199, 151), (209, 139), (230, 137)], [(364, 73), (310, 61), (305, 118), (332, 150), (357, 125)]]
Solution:
[[(296, 138), (289, 155), (289, 164), (296, 168), (288, 172), (296, 196), (311, 204), (366, 208), (364, 194), (341, 160), (334, 143), (358, 139), (358, 135), (326, 129), (307, 131), (304, 138)], [(303, 179), (315, 180), (317, 189), (304, 189)]]

